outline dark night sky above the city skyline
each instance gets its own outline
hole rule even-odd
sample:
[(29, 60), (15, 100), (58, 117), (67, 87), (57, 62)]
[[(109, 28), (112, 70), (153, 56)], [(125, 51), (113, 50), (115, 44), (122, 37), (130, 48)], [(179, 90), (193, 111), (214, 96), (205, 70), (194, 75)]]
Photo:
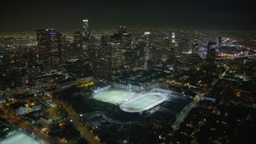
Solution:
[(2, 0), (0, 31), (130, 27), (255, 29), (253, 2), (225, 0)]

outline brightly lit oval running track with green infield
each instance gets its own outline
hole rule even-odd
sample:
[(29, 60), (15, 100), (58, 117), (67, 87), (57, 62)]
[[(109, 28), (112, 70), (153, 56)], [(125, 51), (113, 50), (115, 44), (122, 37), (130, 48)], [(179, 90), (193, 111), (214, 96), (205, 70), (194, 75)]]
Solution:
[(149, 110), (157, 106), (165, 100), (166, 98), (162, 94), (145, 94), (142, 97), (123, 103), (120, 108), (126, 112), (142, 112), (143, 110)]

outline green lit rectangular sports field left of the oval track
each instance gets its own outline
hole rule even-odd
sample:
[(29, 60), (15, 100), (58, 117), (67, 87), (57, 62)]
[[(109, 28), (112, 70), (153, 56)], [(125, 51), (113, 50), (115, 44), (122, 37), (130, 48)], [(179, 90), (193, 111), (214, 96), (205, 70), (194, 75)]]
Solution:
[(102, 102), (110, 102), (113, 104), (119, 104), (121, 102), (125, 102), (126, 99), (131, 98), (134, 93), (130, 93), (129, 91), (124, 90), (109, 90), (103, 92), (101, 94), (97, 94), (94, 96), (94, 99), (97, 99)]

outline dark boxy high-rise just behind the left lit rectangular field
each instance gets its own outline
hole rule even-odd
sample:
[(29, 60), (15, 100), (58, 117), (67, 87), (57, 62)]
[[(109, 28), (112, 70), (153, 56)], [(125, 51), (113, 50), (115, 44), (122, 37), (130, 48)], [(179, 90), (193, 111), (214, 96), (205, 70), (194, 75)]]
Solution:
[(95, 79), (111, 79), (111, 62), (105, 58), (98, 58), (93, 63)]

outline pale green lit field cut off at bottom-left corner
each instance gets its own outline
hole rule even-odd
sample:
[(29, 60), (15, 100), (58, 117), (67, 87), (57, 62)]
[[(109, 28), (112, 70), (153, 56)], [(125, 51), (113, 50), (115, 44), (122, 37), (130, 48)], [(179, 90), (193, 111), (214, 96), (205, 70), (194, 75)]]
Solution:
[(34, 138), (31, 138), (30, 136), (21, 133), (17, 134), (13, 137), (7, 138), (0, 142), (0, 144), (40, 144), (40, 142), (36, 141)]

